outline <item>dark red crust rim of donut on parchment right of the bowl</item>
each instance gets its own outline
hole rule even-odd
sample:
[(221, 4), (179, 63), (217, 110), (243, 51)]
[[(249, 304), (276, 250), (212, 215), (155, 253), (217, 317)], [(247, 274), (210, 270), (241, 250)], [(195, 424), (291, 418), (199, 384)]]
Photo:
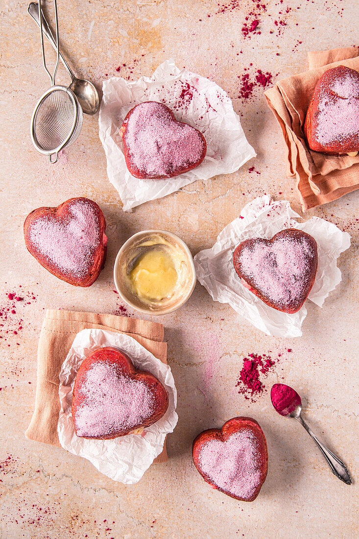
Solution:
[[(314, 259), (312, 261), (312, 265), (309, 268), (310, 280), (309, 280), (308, 287), (306, 288), (306, 290), (303, 290), (303, 294), (302, 294), (301, 298), (298, 300), (298, 302), (296, 303), (296, 305), (292, 306), (292, 308), (284, 309), (283, 307), (281, 307), (280, 305), (275, 303), (275, 301), (273, 301), (273, 299), (270, 298), (269, 296), (264, 296), (263, 294), (258, 292), (258, 290), (256, 288), (254, 288), (253, 282), (250, 282), (250, 281), (247, 281), (247, 280), (244, 279), (243, 274), (241, 273), (239, 257), (240, 257), (240, 253), (243, 250), (243, 248), (246, 247), (248, 244), (253, 244), (255, 242), (256, 243), (273, 243), (273, 241), (275, 241), (276, 239), (280, 239), (281, 237), (288, 237), (288, 236), (289, 237), (291, 237), (291, 236), (292, 237), (295, 237), (295, 236), (296, 237), (306, 237), (307, 240), (310, 242), (310, 244), (313, 247), (315, 257), (314, 257)], [(303, 306), (303, 303), (308, 298), (309, 292), (312, 290), (312, 287), (314, 285), (316, 270), (317, 270), (317, 266), (318, 266), (317, 244), (316, 244), (315, 239), (312, 236), (310, 236), (310, 234), (307, 234), (306, 232), (302, 232), (301, 230), (298, 230), (298, 229), (281, 230), (280, 232), (278, 232), (278, 234), (275, 234), (275, 236), (273, 236), (272, 239), (267, 240), (267, 239), (263, 239), (263, 238), (250, 238), (250, 239), (246, 239), (245, 241), (242, 241), (236, 247), (236, 250), (233, 253), (233, 265), (234, 265), (234, 269), (237, 272), (238, 277), (240, 277), (240, 280), (242, 281), (242, 284), (246, 288), (248, 288), (248, 290), (250, 292), (255, 294), (260, 300), (264, 301), (264, 303), (266, 303), (270, 307), (273, 307), (273, 309), (280, 310), (283, 313), (293, 314), (293, 313), (298, 312), (299, 309)]]

